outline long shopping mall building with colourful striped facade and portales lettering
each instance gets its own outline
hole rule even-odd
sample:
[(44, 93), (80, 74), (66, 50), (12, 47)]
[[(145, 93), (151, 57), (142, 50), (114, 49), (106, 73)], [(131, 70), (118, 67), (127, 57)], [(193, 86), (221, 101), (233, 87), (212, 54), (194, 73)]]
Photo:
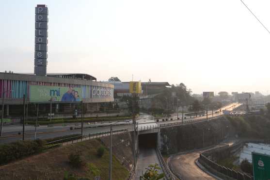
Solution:
[(101, 102), (113, 101), (112, 84), (96, 82), (96, 78), (88, 74), (50, 74), (37, 76), (31, 74), (0, 73), (0, 99), (4, 100), (5, 116), (21, 115), (23, 97), (25, 103), (40, 104), (40, 110), (49, 112), (74, 111), (74, 105), (84, 103), (87, 111), (99, 110)]

